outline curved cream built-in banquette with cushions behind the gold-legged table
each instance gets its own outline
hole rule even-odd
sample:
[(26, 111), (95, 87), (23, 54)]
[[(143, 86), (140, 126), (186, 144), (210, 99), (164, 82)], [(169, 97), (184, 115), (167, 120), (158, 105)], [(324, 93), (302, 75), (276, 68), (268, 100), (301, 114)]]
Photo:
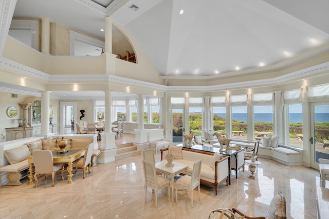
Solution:
[[(94, 143), (94, 138), (64, 138), (67, 140), (69, 148), (86, 148), (89, 144)], [(22, 140), (14, 140), (2, 144), (1, 154), (5, 158), (6, 164), (0, 167), (0, 176), (2, 178), (1, 185), (21, 185), (20, 180), (29, 175), (28, 157), (33, 155), (35, 150), (55, 150), (57, 148), (60, 137), (54, 137), (51, 140), (44, 140), (43, 137), (29, 137)], [(3, 146), (7, 147), (3, 147)], [(97, 150), (94, 151), (96, 154)], [(3, 161), (4, 163), (4, 161)], [(6, 180), (3, 180), (4, 174)]]

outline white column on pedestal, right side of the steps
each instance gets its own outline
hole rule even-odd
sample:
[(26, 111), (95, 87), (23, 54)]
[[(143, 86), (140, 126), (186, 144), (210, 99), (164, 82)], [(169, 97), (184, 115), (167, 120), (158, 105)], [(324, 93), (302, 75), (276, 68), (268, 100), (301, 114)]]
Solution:
[(139, 150), (150, 148), (148, 130), (144, 129), (144, 95), (138, 94), (138, 129), (135, 129), (135, 141)]

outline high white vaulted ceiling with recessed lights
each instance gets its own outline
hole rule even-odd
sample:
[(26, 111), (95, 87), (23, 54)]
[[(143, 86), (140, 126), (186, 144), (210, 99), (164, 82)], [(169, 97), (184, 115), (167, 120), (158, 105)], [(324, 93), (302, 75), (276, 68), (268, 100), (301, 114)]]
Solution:
[(161, 75), (213, 75), (277, 64), (328, 43), (328, 8), (328, 0), (17, 0), (14, 17), (46, 16), (103, 39), (109, 16)]

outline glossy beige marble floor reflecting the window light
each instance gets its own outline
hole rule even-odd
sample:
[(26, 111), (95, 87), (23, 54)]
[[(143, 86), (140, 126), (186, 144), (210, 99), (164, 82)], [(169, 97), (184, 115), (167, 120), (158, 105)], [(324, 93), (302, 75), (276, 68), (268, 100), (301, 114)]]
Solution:
[[(129, 138), (126, 135), (124, 138)], [(156, 154), (156, 162), (160, 154)], [(178, 202), (168, 200), (167, 189), (155, 195), (148, 189), (144, 202), (142, 155), (98, 164), (82, 178), (82, 169), (72, 177), (72, 184), (56, 174), (55, 186), (51, 177), (43, 181), (39, 176), (37, 188), (28, 185), (0, 187), (0, 218), (208, 218), (216, 208), (237, 207), (253, 216), (265, 216), (268, 205), (278, 191), (286, 198), (287, 218), (317, 218), (318, 170), (302, 166), (288, 167), (278, 162), (259, 158), (261, 165), (249, 178), (250, 172), (232, 171), (231, 185), (213, 187), (201, 185), (201, 201), (194, 190), (194, 208), (189, 195), (178, 192)], [(66, 174), (66, 173), (65, 173)], [(64, 175), (65, 176), (65, 175)], [(329, 183), (326, 183), (329, 188)], [(323, 197), (328, 200), (329, 197)]]

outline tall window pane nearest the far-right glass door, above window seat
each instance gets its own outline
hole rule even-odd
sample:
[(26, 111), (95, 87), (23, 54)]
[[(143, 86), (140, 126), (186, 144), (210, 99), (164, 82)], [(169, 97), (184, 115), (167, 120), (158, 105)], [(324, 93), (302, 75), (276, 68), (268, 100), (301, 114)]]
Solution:
[(301, 104), (288, 105), (289, 145), (303, 147), (303, 110)]

